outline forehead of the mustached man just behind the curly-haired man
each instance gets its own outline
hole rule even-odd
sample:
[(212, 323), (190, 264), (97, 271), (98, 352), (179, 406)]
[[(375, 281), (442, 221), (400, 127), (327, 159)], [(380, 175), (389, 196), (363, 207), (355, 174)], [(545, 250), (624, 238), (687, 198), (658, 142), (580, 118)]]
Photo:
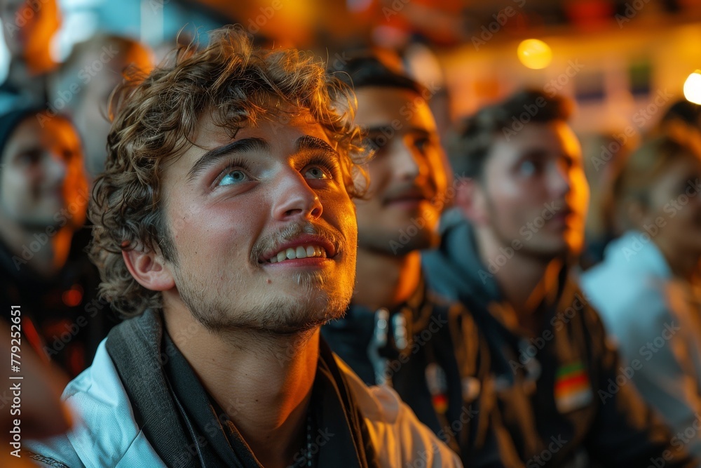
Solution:
[[(355, 91), (358, 112), (355, 122), (362, 127), (384, 126), (395, 122), (396, 126), (411, 126), (436, 131), (433, 114), (428, 103), (416, 92), (405, 88), (366, 86)], [(401, 130), (401, 128), (400, 128)]]

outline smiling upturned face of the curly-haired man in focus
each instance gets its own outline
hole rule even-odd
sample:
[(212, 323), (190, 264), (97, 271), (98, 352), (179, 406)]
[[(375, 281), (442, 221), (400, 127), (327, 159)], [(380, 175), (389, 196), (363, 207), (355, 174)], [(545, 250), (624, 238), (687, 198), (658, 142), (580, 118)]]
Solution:
[[(358, 229), (339, 156), (302, 111), (231, 139), (205, 121), (165, 168), (175, 294), (210, 330), (293, 333), (338, 318), (353, 293)], [(175, 291), (172, 291), (175, 292)]]

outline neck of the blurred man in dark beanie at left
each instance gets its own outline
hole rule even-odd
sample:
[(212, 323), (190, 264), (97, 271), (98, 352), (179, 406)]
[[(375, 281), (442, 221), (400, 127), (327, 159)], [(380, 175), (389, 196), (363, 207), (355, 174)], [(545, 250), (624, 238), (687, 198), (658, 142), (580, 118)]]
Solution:
[(72, 228), (25, 229), (0, 216), (0, 239), (14, 255), (18, 269), (29, 267), (40, 276), (50, 278), (68, 260), (73, 239)]

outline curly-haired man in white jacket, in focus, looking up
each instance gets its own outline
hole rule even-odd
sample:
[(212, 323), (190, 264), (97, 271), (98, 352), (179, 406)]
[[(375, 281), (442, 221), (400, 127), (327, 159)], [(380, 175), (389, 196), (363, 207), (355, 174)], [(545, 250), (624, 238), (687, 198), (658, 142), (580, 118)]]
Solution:
[(236, 28), (119, 94), (90, 216), (131, 316), (64, 399), (46, 466), (460, 466), (320, 340), (353, 293), (353, 95)]

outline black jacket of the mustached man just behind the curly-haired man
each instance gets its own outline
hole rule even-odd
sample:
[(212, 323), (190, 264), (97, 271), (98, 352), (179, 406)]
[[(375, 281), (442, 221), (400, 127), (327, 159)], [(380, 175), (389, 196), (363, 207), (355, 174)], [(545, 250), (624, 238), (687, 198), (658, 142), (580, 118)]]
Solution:
[[(492, 431), (496, 401), (484, 392), (489, 353), (475, 323), (457, 302), (425, 286), (393, 310), (351, 304), (323, 326), (332, 350), (367, 385), (392, 385), (423, 424), (469, 467), (503, 467), (515, 459)], [(509, 455), (509, 453), (511, 455)]]

